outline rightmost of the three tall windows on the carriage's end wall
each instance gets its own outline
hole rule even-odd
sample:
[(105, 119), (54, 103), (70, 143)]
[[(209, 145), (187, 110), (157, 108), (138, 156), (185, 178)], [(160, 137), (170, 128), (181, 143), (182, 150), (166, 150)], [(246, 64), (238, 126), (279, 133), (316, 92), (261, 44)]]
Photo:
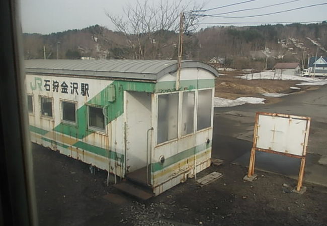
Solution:
[(197, 130), (211, 126), (212, 89), (199, 90)]

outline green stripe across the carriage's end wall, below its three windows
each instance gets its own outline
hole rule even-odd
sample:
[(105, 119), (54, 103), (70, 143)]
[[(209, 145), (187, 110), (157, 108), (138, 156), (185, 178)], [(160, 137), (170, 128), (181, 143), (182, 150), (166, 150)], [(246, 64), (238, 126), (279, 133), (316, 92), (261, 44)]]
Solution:
[(176, 163), (178, 163), (179, 161), (181, 160), (184, 160), (184, 159), (187, 159), (189, 157), (191, 157), (192, 155), (194, 155), (194, 148), (195, 148), (195, 154), (198, 154), (208, 148), (211, 147), (211, 142), (209, 144), (207, 143), (203, 143), (203, 144), (200, 144), (196, 147), (193, 147), (193, 148), (190, 148), (190, 149), (187, 149), (185, 151), (182, 151), (176, 155), (173, 155), (167, 159), (165, 159), (165, 162), (163, 164), (161, 163), (152, 163), (151, 164), (151, 170), (152, 172), (156, 172), (156, 171), (159, 171), (159, 170), (162, 170), (162, 169), (165, 169), (171, 165), (174, 165)]

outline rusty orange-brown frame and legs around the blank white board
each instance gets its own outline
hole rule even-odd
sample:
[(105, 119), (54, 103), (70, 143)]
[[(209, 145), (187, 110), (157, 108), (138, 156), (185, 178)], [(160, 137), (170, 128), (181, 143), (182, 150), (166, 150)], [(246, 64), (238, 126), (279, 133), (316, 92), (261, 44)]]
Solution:
[[(290, 153), (283, 153), (279, 151), (274, 151), (271, 149), (263, 149), (263, 148), (257, 148), (257, 140), (258, 140), (258, 127), (259, 127), (259, 116), (271, 116), (271, 117), (279, 117), (284, 119), (297, 119), (297, 120), (305, 120), (306, 121), (306, 129), (305, 129), (305, 137), (304, 137), (304, 143), (303, 143), (303, 152), (302, 155), (295, 155)], [(303, 183), (303, 176), (304, 176), (304, 168), (305, 168), (305, 156), (306, 156), (306, 150), (308, 145), (308, 139), (309, 139), (309, 130), (310, 130), (310, 122), (311, 118), (309, 117), (303, 117), (303, 116), (293, 116), (293, 115), (286, 115), (286, 114), (277, 114), (277, 113), (268, 113), (268, 112), (257, 112), (256, 118), (255, 118), (255, 128), (254, 128), (254, 136), (253, 136), (253, 146), (251, 149), (251, 155), (250, 155), (250, 163), (249, 163), (249, 171), (248, 171), (248, 177), (251, 177), (254, 175), (255, 170), (255, 159), (256, 159), (256, 151), (261, 152), (268, 152), (273, 154), (279, 154), (284, 155), (288, 157), (294, 157), (294, 158), (300, 158), (301, 159), (301, 165), (299, 170), (299, 176), (298, 176), (298, 183), (296, 186), (296, 190), (300, 191)]]

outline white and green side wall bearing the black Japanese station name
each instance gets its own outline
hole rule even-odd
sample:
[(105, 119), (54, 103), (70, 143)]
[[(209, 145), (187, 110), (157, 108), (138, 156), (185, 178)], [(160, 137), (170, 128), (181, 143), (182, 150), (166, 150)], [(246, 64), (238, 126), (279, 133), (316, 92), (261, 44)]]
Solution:
[[(115, 159), (124, 156), (123, 117), (119, 116), (111, 123), (105, 123), (104, 130), (97, 131), (88, 127), (88, 106), (103, 107), (104, 103), (101, 105), (94, 103), (99, 98), (97, 96), (99, 92), (112, 82), (102, 79), (27, 74), (27, 94), (33, 96), (33, 113), (29, 114), (32, 141), (101, 169), (117, 171), (117, 175), (123, 175), (121, 164), (117, 165), (118, 160)], [(41, 97), (52, 99), (52, 117), (41, 115)], [(63, 121), (61, 101), (75, 103), (75, 124)], [(69, 130), (66, 130), (67, 128)], [(111, 133), (112, 130), (115, 133)]]

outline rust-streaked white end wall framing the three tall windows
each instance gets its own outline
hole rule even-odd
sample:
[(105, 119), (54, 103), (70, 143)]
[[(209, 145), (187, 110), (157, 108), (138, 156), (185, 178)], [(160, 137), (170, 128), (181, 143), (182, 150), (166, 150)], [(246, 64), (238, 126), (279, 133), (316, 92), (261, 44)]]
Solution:
[[(155, 94), (152, 103), (152, 125), (154, 131), (152, 133), (151, 150), (151, 184), (154, 187), (155, 194), (162, 193), (179, 184), (181, 181), (185, 181), (187, 177), (193, 177), (197, 172), (210, 166), (214, 78), (212, 73), (201, 68), (185, 68), (181, 70), (181, 86), (184, 88), (186, 87), (185, 91)], [(176, 76), (167, 74), (158, 80), (156, 90), (165, 90), (165, 87), (172, 82), (176, 82)], [(209, 112), (211, 112), (211, 120), (206, 128), (197, 131), (198, 95), (201, 90), (211, 91), (210, 96), (205, 100)], [(190, 134), (185, 134), (185, 130), (183, 129), (185, 125), (182, 125), (182, 118), (183, 116), (185, 117), (183, 113), (183, 93), (185, 92), (194, 92), (195, 94), (193, 132)], [(160, 138), (158, 140), (158, 127), (160, 127), (160, 125), (158, 125), (158, 114), (160, 114), (159, 111), (162, 110), (160, 106), (158, 106), (158, 98), (160, 95), (174, 93), (178, 94), (177, 137), (173, 138), (174, 136), (172, 136), (168, 141), (162, 141)], [(204, 101), (201, 98), (200, 100)], [(170, 112), (169, 109), (168, 111)], [(168, 120), (174, 121), (174, 117)], [(169, 124), (169, 121), (166, 123)], [(174, 125), (172, 124), (168, 127), (172, 126)], [(170, 136), (167, 135), (167, 137)], [(164, 158), (165, 161), (160, 163), (162, 158)]]

